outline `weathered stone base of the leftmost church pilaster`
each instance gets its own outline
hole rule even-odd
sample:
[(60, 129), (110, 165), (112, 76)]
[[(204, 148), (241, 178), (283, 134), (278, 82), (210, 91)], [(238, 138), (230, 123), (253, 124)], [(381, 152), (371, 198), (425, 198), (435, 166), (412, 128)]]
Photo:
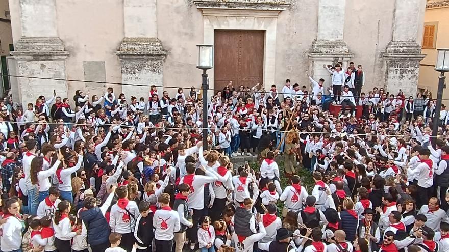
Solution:
[(18, 95), (23, 107), (36, 103), (40, 95), (52, 97), (53, 90), (57, 96), (68, 97), (66, 80), (47, 80), (26, 77), (43, 77), (67, 79), (66, 59), (69, 55), (64, 44), (55, 37), (22, 37), (16, 44), (16, 51), (11, 52), (14, 60), (14, 72), (11, 77), (16, 87), (11, 87), (13, 95)]

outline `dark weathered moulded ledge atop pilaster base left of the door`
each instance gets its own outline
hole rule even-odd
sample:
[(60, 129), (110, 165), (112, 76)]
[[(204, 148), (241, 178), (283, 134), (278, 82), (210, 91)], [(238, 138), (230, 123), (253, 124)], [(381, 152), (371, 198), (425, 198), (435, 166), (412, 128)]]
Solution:
[(124, 38), (116, 54), (120, 59), (165, 59), (167, 52), (157, 38)]

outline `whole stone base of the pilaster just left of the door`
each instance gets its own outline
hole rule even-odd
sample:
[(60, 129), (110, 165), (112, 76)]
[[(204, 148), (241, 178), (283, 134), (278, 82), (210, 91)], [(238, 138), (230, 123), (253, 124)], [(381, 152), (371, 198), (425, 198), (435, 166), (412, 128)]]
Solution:
[[(164, 85), (163, 63), (167, 52), (159, 39), (124, 38), (116, 54), (120, 59), (122, 82), (139, 85), (122, 86), (122, 93), (128, 100), (131, 95), (137, 99), (144, 97), (146, 100), (151, 85)], [(158, 88), (159, 94), (162, 94), (162, 91), (162, 88)]]

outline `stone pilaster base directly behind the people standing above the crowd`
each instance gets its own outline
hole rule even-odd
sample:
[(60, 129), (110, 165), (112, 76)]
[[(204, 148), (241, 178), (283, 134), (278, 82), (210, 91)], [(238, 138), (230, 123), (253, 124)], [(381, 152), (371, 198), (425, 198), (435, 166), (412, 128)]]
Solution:
[(342, 40), (328, 41), (315, 40), (309, 53), (309, 73), (318, 81), (325, 79), (325, 93), (327, 87), (331, 86), (331, 77), (329, 72), (323, 68), (323, 65), (335, 65), (337, 62), (343, 62), (343, 69), (346, 68), (348, 62), (351, 61), (353, 54), (350, 53), (346, 43)]

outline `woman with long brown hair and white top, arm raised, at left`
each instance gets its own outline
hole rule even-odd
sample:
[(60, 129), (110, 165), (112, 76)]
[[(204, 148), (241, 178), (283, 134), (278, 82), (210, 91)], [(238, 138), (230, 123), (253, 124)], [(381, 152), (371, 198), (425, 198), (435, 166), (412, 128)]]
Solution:
[(48, 189), (52, 186), (48, 177), (51, 177), (56, 173), (56, 169), (61, 163), (62, 155), (61, 152), (58, 153), (58, 160), (51, 166), (50, 169), (43, 171), (42, 166), (44, 163), (44, 157), (36, 157), (31, 161), (31, 183), (37, 185), (39, 188), (39, 202), (45, 200), (48, 197)]

